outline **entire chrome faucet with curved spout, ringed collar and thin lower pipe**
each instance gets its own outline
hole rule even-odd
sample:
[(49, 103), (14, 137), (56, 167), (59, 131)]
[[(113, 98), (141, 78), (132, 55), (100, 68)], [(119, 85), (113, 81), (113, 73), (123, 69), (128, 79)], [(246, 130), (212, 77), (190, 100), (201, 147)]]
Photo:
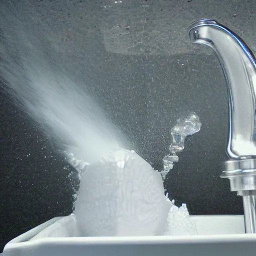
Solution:
[(189, 28), (192, 43), (210, 46), (226, 80), (229, 105), (229, 160), (220, 177), (243, 198), (246, 233), (256, 233), (256, 60), (242, 39), (212, 19)]

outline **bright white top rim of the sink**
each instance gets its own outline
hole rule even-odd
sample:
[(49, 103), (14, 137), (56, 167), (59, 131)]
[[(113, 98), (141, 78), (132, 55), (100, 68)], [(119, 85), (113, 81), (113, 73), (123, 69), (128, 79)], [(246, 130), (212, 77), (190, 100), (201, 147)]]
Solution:
[[(69, 215), (70, 216), (70, 215)], [(67, 217), (67, 216), (63, 216)], [(95, 236), (95, 237), (43, 237), (35, 240), (29, 240), (41, 230), (53, 224), (63, 217), (54, 217), (46, 222), (28, 230), (25, 233), (10, 240), (5, 247), (20, 246), (21, 244), (33, 243), (194, 243), (211, 241), (231, 241), (233, 239), (256, 239), (256, 234), (232, 233), (232, 234), (197, 234), (197, 235), (158, 235), (158, 236)], [(236, 221), (243, 221), (243, 215), (190, 215), (191, 219), (196, 223), (198, 220), (208, 221), (209, 219), (235, 219)], [(242, 222), (243, 223), (243, 222)], [(196, 223), (197, 224), (197, 223)], [(5, 248), (4, 247), (4, 248)]]

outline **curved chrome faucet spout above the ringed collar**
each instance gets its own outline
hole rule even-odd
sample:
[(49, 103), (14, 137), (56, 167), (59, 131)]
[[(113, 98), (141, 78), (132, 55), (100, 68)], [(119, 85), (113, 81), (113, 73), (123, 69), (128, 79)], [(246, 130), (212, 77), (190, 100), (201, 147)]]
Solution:
[(210, 46), (222, 66), (229, 102), (230, 158), (256, 157), (256, 62), (235, 33), (212, 19), (200, 19), (189, 28), (190, 40)]

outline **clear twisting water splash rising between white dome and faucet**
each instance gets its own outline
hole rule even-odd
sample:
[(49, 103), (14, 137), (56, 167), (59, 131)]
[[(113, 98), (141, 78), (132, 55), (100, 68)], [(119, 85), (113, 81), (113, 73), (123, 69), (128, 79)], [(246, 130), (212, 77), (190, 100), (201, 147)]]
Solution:
[(185, 137), (198, 132), (201, 128), (199, 117), (194, 112), (182, 119), (177, 119), (175, 126), (171, 128), (172, 142), (169, 146), (170, 153), (163, 157), (163, 170), (161, 171), (162, 178), (165, 179), (166, 174), (173, 168), (173, 163), (178, 161), (176, 153), (184, 149)]

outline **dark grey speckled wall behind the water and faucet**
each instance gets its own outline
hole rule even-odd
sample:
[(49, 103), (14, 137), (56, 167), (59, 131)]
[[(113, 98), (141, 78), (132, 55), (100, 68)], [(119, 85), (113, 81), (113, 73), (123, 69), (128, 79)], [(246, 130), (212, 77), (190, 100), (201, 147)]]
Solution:
[[(59, 52), (63, 67), (70, 73), (76, 70), (77, 81), (86, 76), (103, 110), (154, 168), (161, 168), (168, 153), (176, 119), (196, 112), (201, 130), (186, 139), (164, 185), (176, 204), (187, 203), (190, 214), (242, 214), (241, 198), (229, 191), (228, 180), (219, 177), (228, 128), (225, 80), (214, 54), (190, 44), (186, 29), (196, 19), (213, 18), (255, 51), (255, 1), (12, 4), (27, 22), (36, 17), (52, 28), (65, 49)], [(77, 185), (75, 171), (51, 139), (1, 89), (0, 251), (28, 229), (71, 213)]]

